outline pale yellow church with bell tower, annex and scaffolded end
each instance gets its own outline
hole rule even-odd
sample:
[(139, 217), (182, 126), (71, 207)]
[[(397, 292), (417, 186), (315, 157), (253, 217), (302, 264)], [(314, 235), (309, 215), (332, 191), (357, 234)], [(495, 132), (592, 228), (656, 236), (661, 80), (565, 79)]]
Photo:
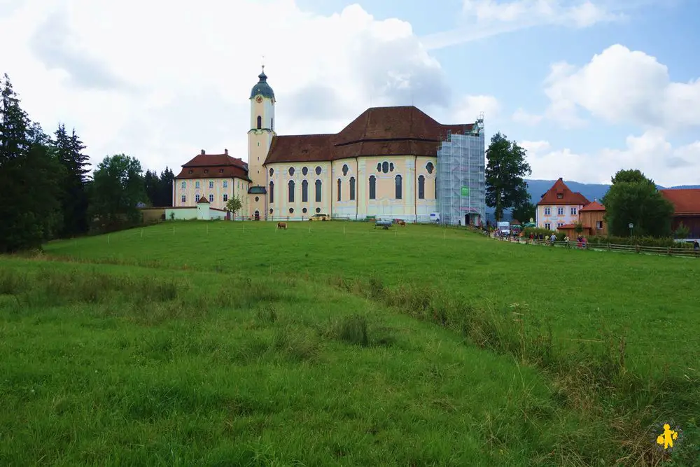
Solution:
[(202, 150), (175, 177), (169, 218), (230, 218), (231, 197), (237, 218), (260, 221), (485, 218), (483, 118), (443, 125), (415, 106), (371, 107), (335, 134), (278, 135), (264, 66), (250, 102), (247, 161)]

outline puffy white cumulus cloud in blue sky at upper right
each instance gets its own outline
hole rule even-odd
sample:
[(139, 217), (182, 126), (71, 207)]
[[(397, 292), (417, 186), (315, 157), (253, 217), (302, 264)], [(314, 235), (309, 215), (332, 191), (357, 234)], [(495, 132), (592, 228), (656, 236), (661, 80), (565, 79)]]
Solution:
[(700, 81), (675, 83), (655, 57), (615, 44), (580, 68), (558, 63), (545, 81), (548, 118), (580, 126), (579, 109), (606, 123), (678, 130), (700, 125)]

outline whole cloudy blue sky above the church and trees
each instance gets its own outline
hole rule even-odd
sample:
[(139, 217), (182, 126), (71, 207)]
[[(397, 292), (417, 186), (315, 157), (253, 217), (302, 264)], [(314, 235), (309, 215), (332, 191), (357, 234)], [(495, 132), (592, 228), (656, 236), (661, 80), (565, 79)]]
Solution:
[(0, 74), (97, 165), (247, 158), (264, 60), (278, 134), (415, 105), (526, 148), (531, 179), (700, 183), (696, 0), (0, 0)]

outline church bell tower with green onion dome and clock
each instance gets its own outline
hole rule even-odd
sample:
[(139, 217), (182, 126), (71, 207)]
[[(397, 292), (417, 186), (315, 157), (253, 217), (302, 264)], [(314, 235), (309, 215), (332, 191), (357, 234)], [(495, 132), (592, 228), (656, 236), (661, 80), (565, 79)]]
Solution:
[[(251, 188), (248, 190), (251, 214), (260, 219), (267, 217), (267, 196), (269, 183), (263, 164), (267, 151), (274, 137), (274, 92), (267, 84), (265, 65), (258, 75), (258, 83), (251, 90), (251, 126), (248, 130), (248, 178)], [(256, 215), (257, 214), (257, 215)]]

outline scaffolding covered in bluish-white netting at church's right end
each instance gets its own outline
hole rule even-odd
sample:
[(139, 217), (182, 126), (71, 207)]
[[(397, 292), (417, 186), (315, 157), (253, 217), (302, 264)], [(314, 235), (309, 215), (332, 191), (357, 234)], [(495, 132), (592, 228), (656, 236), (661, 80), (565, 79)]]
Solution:
[(486, 219), (484, 117), (448, 131), (437, 148), (437, 213), (440, 223), (480, 225)]

